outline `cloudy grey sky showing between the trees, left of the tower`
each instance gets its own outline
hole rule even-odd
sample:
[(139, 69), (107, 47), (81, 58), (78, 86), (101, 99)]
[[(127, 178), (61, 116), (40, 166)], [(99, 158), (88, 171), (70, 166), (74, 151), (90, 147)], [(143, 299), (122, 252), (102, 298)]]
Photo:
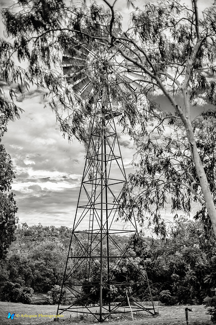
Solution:
[[(207, 2), (212, 4), (210, 0), (199, 1), (205, 7)], [(0, 0), (2, 7), (12, 3)], [(126, 26), (131, 9), (122, 3), (119, 0), (117, 9), (121, 9)], [(140, 0), (135, 4), (141, 7), (145, 2)], [(3, 37), (2, 23), (0, 30)], [(71, 143), (63, 139), (41, 91), (32, 89), (26, 93), (19, 106), (24, 113), (19, 120), (9, 122), (2, 141), (16, 171), (12, 189), (19, 207), (19, 221), (29, 225), (40, 222), (72, 226), (84, 166), (84, 147), (76, 139)], [(129, 163), (135, 153), (134, 145), (126, 135), (121, 135), (119, 140), (124, 143), (121, 152), (126, 173), (131, 172)], [(169, 218), (169, 214), (164, 212), (164, 217)]]

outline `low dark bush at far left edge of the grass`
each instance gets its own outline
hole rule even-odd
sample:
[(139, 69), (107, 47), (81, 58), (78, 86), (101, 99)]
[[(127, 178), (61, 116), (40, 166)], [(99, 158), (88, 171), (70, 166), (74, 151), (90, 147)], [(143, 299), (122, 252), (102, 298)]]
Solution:
[(1, 288), (1, 300), (12, 303), (31, 304), (33, 289), (7, 281)]

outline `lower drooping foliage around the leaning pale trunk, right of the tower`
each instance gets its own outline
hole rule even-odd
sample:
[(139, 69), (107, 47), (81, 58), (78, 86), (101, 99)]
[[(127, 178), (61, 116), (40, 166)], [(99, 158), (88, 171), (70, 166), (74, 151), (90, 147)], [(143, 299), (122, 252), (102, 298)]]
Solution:
[[(149, 226), (154, 225), (157, 234), (165, 237), (166, 224), (161, 212), (168, 209), (168, 213), (176, 216), (182, 211), (190, 214), (194, 203), (204, 203), (181, 123), (178, 120), (172, 123), (170, 119), (168, 123), (164, 121), (162, 126), (155, 125), (156, 119), (149, 126), (148, 134), (139, 131), (134, 135), (138, 148), (133, 161), (136, 172), (128, 176), (129, 196), (125, 185), (121, 204), (122, 207), (128, 207), (129, 211), (136, 211), (140, 224), (147, 221)], [(192, 125), (215, 202), (215, 112), (202, 113)], [(200, 218), (205, 224), (206, 236), (212, 234), (205, 208), (200, 209), (195, 218)]]

